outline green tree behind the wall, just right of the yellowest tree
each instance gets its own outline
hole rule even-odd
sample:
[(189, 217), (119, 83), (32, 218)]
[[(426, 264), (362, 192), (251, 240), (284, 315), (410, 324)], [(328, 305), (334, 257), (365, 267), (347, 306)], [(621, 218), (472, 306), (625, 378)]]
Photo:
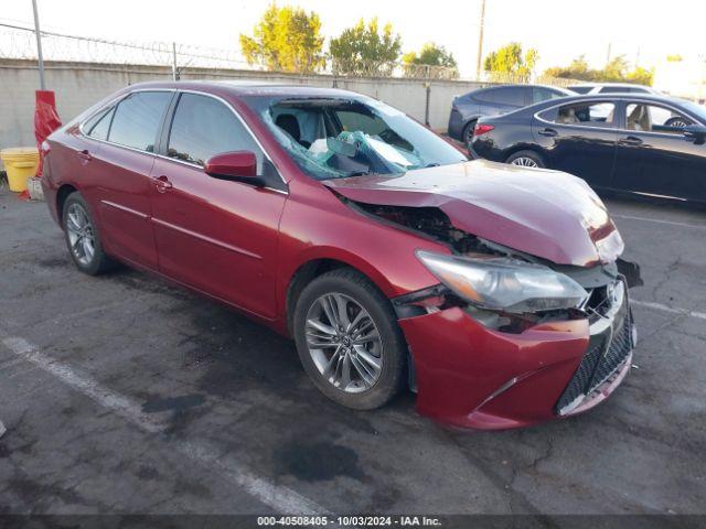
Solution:
[(331, 39), (329, 46), (334, 71), (353, 75), (392, 75), (400, 50), (400, 36), (393, 32), (389, 23), (381, 31), (377, 18), (367, 24), (361, 19), (353, 28)]

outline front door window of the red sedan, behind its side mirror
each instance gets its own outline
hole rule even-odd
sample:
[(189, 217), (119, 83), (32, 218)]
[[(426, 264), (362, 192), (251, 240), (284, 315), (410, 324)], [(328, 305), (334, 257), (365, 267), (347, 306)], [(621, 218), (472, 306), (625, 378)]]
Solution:
[(254, 152), (261, 169), (263, 153), (233, 110), (213, 97), (182, 94), (172, 119), (168, 155), (204, 165), (214, 154), (231, 151)]

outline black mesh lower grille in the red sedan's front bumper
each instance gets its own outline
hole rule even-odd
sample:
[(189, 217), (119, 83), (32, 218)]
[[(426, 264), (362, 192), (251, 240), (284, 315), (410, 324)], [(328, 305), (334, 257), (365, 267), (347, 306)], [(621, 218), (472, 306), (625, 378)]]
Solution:
[(616, 374), (632, 347), (632, 317), (625, 300), (613, 316), (612, 324), (601, 333), (591, 335), (581, 364), (556, 404), (556, 412), (565, 414), (591, 395)]

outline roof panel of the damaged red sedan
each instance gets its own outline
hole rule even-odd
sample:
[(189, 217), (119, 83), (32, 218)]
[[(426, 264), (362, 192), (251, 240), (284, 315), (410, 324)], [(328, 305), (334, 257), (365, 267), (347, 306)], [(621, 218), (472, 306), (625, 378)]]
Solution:
[(179, 82), (147, 82), (130, 85), (129, 89), (182, 89), (214, 94), (228, 93), (234, 96), (295, 96), (295, 97), (360, 97), (360, 94), (339, 88), (296, 85), (277, 82), (261, 82), (252, 79), (205, 79)]

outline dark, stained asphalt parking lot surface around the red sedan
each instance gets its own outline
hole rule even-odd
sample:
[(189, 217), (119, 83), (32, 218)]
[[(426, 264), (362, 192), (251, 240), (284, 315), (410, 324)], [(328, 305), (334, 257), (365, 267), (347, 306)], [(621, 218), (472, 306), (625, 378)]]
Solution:
[(293, 344), (149, 274), (90, 278), (0, 191), (0, 514), (706, 514), (706, 212), (607, 201), (640, 343), (581, 417), (459, 432), (329, 402)]

